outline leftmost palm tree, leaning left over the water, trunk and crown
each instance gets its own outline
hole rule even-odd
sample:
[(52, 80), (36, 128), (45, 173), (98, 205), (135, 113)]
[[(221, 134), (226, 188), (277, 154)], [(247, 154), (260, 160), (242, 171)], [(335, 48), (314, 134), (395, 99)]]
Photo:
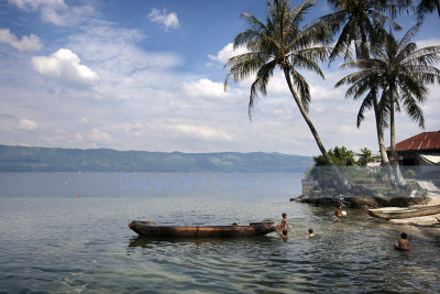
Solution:
[(231, 57), (228, 61), (226, 65), (228, 75), (224, 80), (224, 87), (227, 87), (230, 79), (237, 83), (256, 74), (255, 80), (251, 86), (249, 100), (251, 119), (258, 95), (266, 95), (266, 87), (274, 70), (276, 68), (282, 69), (288, 89), (319, 150), (331, 166), (338, 183), (348, 188), (350, 184), (331, 161), (308, 116), (310, 102), (309, 85), (298, 72), (299, 68), (307, 68), (323, 78), (318, 63), (326, 59), (329, 48), (317, 44), (326, 39), (326, 26), (321, 23), (316, 23), (306, 29), (300, 28), (306, 12), (314, 6), (314, 0), (306, 0), (294, 9), (290, 8), (289, 0), (274, 0), (273, 3), (267, 1), (268, 10), (265, 22), (257, 20), (252, 14), (242, 14), (242, 18), (249, 24), (249, 29), (234, 37), (233, 46), (237, 48), (245, 45), (249, 53)]

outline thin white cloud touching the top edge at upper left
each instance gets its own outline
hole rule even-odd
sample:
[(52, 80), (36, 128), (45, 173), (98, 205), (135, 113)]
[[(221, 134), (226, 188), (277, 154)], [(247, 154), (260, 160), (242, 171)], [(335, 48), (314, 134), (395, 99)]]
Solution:
[(43, 21), (59, 26), (81, 23), (85, 18), (95, 14), (91, 6), (69, 8), (64, 0), (9, 0), (9, 2), (25, 11), (40, 10)]

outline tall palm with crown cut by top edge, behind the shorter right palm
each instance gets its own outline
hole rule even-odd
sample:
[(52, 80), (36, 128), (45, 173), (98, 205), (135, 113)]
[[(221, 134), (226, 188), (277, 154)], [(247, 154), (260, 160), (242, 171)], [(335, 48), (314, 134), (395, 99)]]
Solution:
[[(340, 54), (344, 54), (345, 61), (352, 59), (352, 44), (354, 44), (356, 58), (367, 59), (370, 57), (367, 44), (369, 42), (373, 44), (381, 42), (386, 33), (384, 25), (389, 24), (393, 29), (400, 30), (400, 26), (384, 12), (389, 12), (394, 17), (397, 11), (405, 9), (410, 0), (328, 0), (327, 2), (333, 8), (334, 12), (321, 17), (317, 21), (326, 23), (333, 35), (340, 32), (330, 54), (329, 59), (332, 62)], [(394, 186), (395, 178), (386, 154), (383, 133), (385, 119), (382, 116), (384, 112), (381, 110), (381, 104), (377, 100), (377, 89), (371, 88), (370, 90), (358, 116), (358, 128), (363, 119), (363, 112), (373, 108), (382, 165)], [(355, 97), (359, 98), (360, 96)]]

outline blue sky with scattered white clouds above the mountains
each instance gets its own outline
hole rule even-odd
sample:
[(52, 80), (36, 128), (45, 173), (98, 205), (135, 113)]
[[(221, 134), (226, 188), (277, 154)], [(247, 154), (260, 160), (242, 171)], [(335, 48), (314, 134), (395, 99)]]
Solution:
[[(243, 52), (232, 50), (246, 29), (240, 14), (265, 10), (263, 0), (0, 0), (0, 144), (319, 154), (279, 70), (252, 121), (252, 79), (223, 90), (226, 61)], [(330, 12), (319, 0), (308, 20)], [(397, 21), (403, 32), (415, 24)], [(429, 15), (414, 40), (439, 45), (439, 25)], [(326, 79), (300, 70), (309, 116), (326, 149), (377, 152), (373, 113), (358, 129), (361, 101), (334, 88), (350, 73), (339, 65), (321, 64)], [(439, 98), (430, 86), (425, 130), (397, 113), (397, 142), (440, 130)]]

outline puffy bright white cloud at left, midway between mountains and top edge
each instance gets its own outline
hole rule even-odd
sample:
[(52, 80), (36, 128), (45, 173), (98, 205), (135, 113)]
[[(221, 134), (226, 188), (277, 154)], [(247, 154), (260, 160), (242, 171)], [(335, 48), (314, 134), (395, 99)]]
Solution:
[(61, 48), (48, 57), (34, 56), (32, 65), (44, 77), (73, 87), (92, 86), (99, 80), (98, 74), (81, 65), (79, 57), (67, 48)]

